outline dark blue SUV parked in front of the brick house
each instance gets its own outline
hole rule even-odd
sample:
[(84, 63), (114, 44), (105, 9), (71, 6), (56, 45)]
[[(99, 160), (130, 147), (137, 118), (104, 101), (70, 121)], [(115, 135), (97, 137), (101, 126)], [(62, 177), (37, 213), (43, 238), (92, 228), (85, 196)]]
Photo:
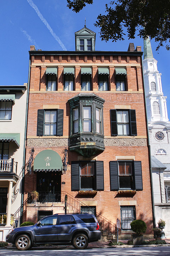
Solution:
[(72, 244), (85, 249), (89, 242), (101, 239), (97, 219), (92, 214), (54, 214), (42, 218), (33, 226), (11, 229), (6, 241), (18, 250), (28, 250), (33, 244)]

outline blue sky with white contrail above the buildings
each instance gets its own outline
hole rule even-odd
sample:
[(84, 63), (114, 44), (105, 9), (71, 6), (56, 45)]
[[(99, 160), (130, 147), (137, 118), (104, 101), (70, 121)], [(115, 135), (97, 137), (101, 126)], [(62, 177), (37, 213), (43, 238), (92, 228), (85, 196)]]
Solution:
[[(1, 0), (0, 10), (0, 85), (23, 85), (28, 81), (30, 45), (42, 50), (75, 50), (74, 32), (86, 25), (96, 32), (96, 50), (126, 51), (129, 43), (142, 46), (143, 39), (104, 42), (100, 38), (99, 28), (94, 27), (99, 13), (104, 14), (105, 4), (109, 0), (94, 0), (78, 14), (66, 7), (66, 0)], [(169, 70), (170, 51), (160, 48), (151, 41), (153, 55), (158, 60), (158, 70), (162, 73), (162, 86), (167, 96), (170, 119)]]

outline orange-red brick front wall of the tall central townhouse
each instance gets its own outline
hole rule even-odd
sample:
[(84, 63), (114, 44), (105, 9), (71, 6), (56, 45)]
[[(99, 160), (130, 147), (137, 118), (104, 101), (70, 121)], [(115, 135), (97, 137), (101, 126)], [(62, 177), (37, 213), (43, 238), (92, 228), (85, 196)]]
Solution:
[[(102, 53), (103, 55), (103, 53)], [(129, 56), (130, 54), (128, 54)], [(45, 62), (42, 64), (42, 58), (40, 55), (35, 55), (34, 63), (32, 63), (31, 74), (30, 74), (30, 94), (29, 94), (29, 107), (28, 107), (28, 126), (27, 126), (27, 137), (36, 137), (37, 130), (37, 113), (38, 109), (43, 109), (43, 105), (59, 105), (60, 109), (64, 110), (63, 119), (63, 137), (56, 138), (69, 138), (70, 134), (70, 106), (68, 100), (78, 93), (81, 92), (81, 65), (86, 65), (92, 68), (92, 90), (94, 94), (104, 98), (105, 102), (103, 105), (103, 124), (104, 124), (104, 136), (105, 138), (111, 137), (111, 126), (110, 126), (110, 109), (115, 109), (115, 105), (130, 105), (131, 109), (136, 110), (136, 123), (137, 123), (137, 137), (147, 138), (146, 128), (146, 116), (145, 116), (145, 104), (143, 90), (143, 78), (142, 69), (140, 63), (137, 62), (137, 55), (127, 58), (122, 55), (119, 58), (118, 55), (113, 55), (113, 60), (108, 55), (104, 56), (104, 62), (102, 62), (101, 55), (96, 55), (96, 61), (94, 63), (93, 55), (88, 55), (87, 62), (85, 62), (84, 55), (79, 55), (79, 62), (77, 55), (71, 55), (70, 66), (75, 63), (75, 78), (74, 85), (75, 91), (63, 91), (63, 68), (64, 64), (68, 64), (68, 56), (62, 55), (61, 62), (59, 62), (59, 56), (53, 55), (53, 65), (58, 67), (57, 85), (58, 90), (55, 92), (40, 91), (40, 88), (45, 88), (45, 68), (50, 63), (50, 55), (45, 56)], [(120, 54), (119, 54), (120, 56)], [(128, 60), (128, 62), (127, 62)], [(98, 91), (98, 64), (107, 64), (109, 68), (109, 91)], [(57, 65), (58, 64), (58, 65)], [(111, 65), (112, 64), (112, 65)], [(122, 64), (127, 70), (127, 87), (128, 91), (118, 92), (116, 91), (115, 85), (115, 67), (117, 64)], [(60, 66), (62, 65), (62, 66)], [(94, 66), (95, 65), (95, 66)], [(118, 67), (120, 67), (118, 65)], [(41, 67), (40, 67), (41, 66)], [(68, 66), (68, 65), (67, 65)], [(40, 137), (41, 138), (41, 137)], [(43, 138), (51, 138), (46, 136)], [(52, 137), (53, 138), (53, 137)], [(118, 138), (118, 137), (116, 137)], [(128, 138), (135, 138), (130, 137)], [(52, 149), (56, 151), (61, 159), (63, 158), (62, 151), (65, 147), (46, 147), (46, 146), (35, 146), (34, 147), (34, 158), (42, 150)], [(29, 160), (30, 154), (29, 146), (26, 147), (26, 162)], [(148, 158), (148, 147), (147, 146), (106, 146), (105, 150), (95, 155), (94, 158), (97, 161), (104, 162), (104, 191), (98, 191), (95, 197), (80, 197), (78, 192), (71, 191), (71, 161), (77, 161), (79, 154), (74, 151), (68, 150), (68, 168), (66, 174), (61, 176), (61, 182), (65, 184), (61, 185), (61, 191), (66, 191), (73, 197), (78, 198), (80, 201), (94, 201), (96, 205), (96, 211), (101, 213), (104, 217), (116, 223), (116, 219), (120, 219), (120, 205), (119, 201), (134, 201), (136, 200), (136, 219), (143, 219), (147, 223), (147, 233), (152, 234), (152, 202), (151, 202), (151, 187), (150, 187), (150, 175), (149, 175), (149, 158)], [(142, 180), (143, 180), (143, 191), (137, 191), (133, 196), (118, 195), (117, 191), (110, 191), (110, 177), (109, 177), (109, 161), (115, 161), (116, 156), (135, 156), (135, 161), (141, 161), (142, 163)], [(85, 160), (85, 158), (84, 158)], [(31, 175), (28, 175), (27, 171), (25, 174), (25, 187), (24, 187), (24, 200), (27, 199), (28, 192), (36, 190), (36, 172), (32, 171)], [(24, 212), (24, 220), (37, 221), (37, 210), (53, 210), (53, 213), (58, 211), (63, 212), (62, 207), (48, 206), (48, 207), (27, 207)], [(121, 231), (123, 234), (123, 230)]]

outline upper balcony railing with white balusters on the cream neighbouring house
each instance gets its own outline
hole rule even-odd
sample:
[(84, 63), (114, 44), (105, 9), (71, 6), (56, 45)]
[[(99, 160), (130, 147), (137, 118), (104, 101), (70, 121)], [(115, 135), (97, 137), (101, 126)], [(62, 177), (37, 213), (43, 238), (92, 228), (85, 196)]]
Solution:
[(0, 160), (1, 173), (17, 173), (17, 162), (14, 159)]

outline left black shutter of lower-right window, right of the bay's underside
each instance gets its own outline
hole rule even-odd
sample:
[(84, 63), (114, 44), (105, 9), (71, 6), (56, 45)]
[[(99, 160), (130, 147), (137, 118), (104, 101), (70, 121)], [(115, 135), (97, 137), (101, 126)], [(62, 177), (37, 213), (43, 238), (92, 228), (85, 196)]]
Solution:
[(110, 186), (111, 191), (119, 190), (119, 181), (118, 181), (118, 162), (110, 161)]

